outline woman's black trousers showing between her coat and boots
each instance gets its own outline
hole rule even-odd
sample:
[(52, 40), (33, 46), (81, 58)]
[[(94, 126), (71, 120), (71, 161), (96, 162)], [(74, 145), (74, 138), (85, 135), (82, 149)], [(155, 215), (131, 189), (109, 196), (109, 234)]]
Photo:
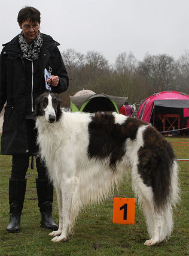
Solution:
[[(28, 146), (29, 152), (23, 154), (15, 154), (12, 158), (12, 179), (25, 179), (26, 172), (29, 167), (29, 158), (31, 155), (36, 155), (38, 147), (36, 146), (36, 134), (35, 121), (33, 119), (26, 119), (27, 131), (28, 131)], [(35, 157), (36, 169), (38, 172), (38, 179), (47, 179), (47, 168), (44, 163), (41, 162), (39, 156)]]

